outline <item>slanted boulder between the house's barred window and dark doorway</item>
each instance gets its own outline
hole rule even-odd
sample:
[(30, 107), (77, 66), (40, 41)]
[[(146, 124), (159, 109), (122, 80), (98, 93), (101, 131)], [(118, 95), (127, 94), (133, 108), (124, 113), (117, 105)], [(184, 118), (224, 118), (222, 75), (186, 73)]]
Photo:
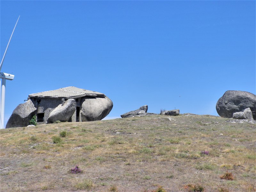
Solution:
[(54, 121), (68, 121), (75, 111), (76, 101), (74, 99), (68, 99), (64, 104), (60, 104), (52, 110), (47, 119), (47, 123), (53, 123)]

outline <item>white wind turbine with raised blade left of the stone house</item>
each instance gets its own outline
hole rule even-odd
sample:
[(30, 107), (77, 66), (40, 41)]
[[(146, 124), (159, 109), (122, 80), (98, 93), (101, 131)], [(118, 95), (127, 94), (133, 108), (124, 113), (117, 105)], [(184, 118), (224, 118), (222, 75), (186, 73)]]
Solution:
[[(19, 16), (18, 20), (19, 20), (19, 19), (20, 19), (20, 16)], [(16, 22), (16, 24), (15, 24), (15, 26), (14, 26), (14, 29), (13, 29), (13, 31), (12, 31), (12, 34), (13, 34), (15, 28), (16, 28), (16, 25), (17, 25), (17, 23), (18, 23), (18, 20), (17, 20), (17, 22)], [(9, 39), (9, 42), (8, 42), (7, 47), (6, 47), (6, 49), (5, 49), (5, 52), (4, 52), (3, 59), (2, 59), (1, 64), (0, 64), (0, 72), (1, 72), (1, 68), (2, 68), (2, 66), (3, 66), (5, 54), (6, 54), (6, 52), (7, 52), (7, 49), (8, 49), (8, 47), (9, 47), (9, 44), (10, 44), (11, 39), (12, 39), (12, 35), (11, 35), (11, 37), (10, 37), (10, 39)], [(0, 123), (1, 123), (1, 125), (0, 125), (0, 128), (1, 128), (1, 129), (4, 129), (5, 83), (6, 83), (6, 79), (7, 79), (7, 80), (13, 80), (14, 75), (11, 75), (11, 74), (8, 74), (8, 73), (2, 73), (2, 72), (1, 72), (1, 73), (0, 73), (0, 78), (2, 79), (2, 85), (1, 85), (1, 90), (0, 90), (0, 93), (2, 93), (2, 94), (1, 94), (1, 104), (0, 104), (0, 106), (1, 106), (1, 110), (0, 110), (0, 116), (1, 116), (1, 118), (0, 118), (1, 122), (0, 122)]]

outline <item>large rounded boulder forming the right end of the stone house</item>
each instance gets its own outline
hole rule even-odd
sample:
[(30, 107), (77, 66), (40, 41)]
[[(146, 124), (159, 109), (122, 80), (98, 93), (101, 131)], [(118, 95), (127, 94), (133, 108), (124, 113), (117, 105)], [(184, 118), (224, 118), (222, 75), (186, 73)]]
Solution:
[(113, 108), (113, 102), (107, 96), (85, 97), (81, 103), (82, 121), (99, 121), (106, 117)]

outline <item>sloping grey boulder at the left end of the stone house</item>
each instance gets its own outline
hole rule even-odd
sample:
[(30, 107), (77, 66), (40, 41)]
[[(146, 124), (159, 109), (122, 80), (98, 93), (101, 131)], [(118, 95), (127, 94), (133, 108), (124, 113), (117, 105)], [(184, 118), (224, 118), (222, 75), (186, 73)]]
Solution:
[(29, 121), (36, 114), (36, 108), (31, 100), (25, 103), (19, 104), (12, 112), (9, 118), (6, 128), (10, 127), (26, 127), (29, 125)]

